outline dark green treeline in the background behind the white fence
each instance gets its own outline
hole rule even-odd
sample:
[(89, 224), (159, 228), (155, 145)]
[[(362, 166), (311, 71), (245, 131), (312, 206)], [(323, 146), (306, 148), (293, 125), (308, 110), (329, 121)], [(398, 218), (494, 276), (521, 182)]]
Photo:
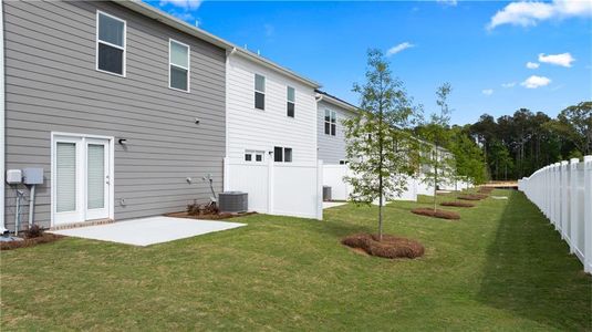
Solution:
[(484, 114), (463, 129), (480, 146), (491, 179), (518, 179), (592, 154), (592, 102), (569, 106), (557, 118), (526, 108), (497, 120)]

